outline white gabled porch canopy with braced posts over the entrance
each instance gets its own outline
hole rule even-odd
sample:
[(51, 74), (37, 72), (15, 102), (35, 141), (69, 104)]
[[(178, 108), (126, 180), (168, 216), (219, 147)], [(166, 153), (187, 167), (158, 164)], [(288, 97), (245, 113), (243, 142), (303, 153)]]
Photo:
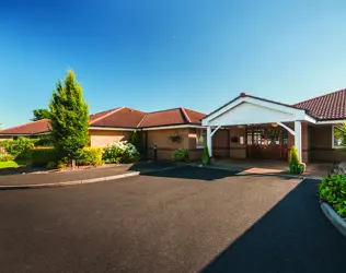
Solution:
[[(221, 127), (278, 123), (295, 135), (295, 145), (301, 161), (301, 121), (316, 122), (304, 109), (242, 93), (239, 97), (205, 117), (201, 124), (207, 127), (207, 144), (209, 155), (212, 156), (212, 135)], [(284, 122), (295, 122), (295, 130), (291, 130)]]

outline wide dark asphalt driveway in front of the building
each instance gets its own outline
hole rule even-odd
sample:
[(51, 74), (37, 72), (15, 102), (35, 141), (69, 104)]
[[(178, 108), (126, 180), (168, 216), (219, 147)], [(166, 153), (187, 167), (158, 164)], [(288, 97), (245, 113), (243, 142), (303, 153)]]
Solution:
[(345, 272), (316, 180), (183, 167), (0, 192), (0, 272)]

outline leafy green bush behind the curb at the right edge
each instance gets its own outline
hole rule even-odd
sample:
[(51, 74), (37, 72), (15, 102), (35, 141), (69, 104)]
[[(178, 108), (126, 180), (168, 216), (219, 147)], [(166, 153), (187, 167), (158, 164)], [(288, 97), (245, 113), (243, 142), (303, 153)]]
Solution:
[(346, 176), (331, 176), (323, 178), (319, 185), (321, 201), (331, 204), (335, 212), (346, 218)]

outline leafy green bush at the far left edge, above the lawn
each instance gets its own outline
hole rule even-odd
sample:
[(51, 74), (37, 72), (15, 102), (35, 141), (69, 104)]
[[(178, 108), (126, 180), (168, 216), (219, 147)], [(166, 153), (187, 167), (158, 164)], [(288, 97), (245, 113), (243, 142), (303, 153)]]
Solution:
[(30, 150), (34, 147), (37, 140), (31, 140), (23, 136), (20, 136), (18, 140), (13, 141), (3, 141), (1, 145), (5, 151), (13, 155), (15, 158), (30, 158)]

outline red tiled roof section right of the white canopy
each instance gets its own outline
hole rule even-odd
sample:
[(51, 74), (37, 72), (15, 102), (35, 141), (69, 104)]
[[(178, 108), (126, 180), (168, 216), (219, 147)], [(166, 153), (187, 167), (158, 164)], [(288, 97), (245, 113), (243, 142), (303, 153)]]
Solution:
[(346, 90), (339, 90), (323, 96), (314, 97), (293, 105), (305, 109), (316, 119), (345, 119), (346, 118)]

